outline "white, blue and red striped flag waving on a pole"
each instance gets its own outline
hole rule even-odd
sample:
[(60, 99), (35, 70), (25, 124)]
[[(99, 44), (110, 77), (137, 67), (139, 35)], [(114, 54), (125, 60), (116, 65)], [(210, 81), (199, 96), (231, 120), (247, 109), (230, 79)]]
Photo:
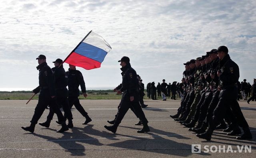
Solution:
[(63, 63), (82, 67), (86, 70), (99, 68), (112, 48), (100, 35), (90, 31)]

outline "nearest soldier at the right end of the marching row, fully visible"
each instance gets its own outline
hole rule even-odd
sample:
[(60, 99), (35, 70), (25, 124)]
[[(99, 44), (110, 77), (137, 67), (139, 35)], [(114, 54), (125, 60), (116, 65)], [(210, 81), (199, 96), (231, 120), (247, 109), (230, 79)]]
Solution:
[[(214, 109), (213, 117), (209, 121), (209, 128), (203, 134), (196, 134), (199, 138), (211, 140), (212, 133), (220, 120), (224, 118), (226, 112), (231, 108), (235, 117), (237, 118), (238, 125), (243, 128), (244, 134), (241, 137), (236, 137), (238, 140), (252, 139), (248, 123), (237, 102), (237, 87), (236, 82), (239, 79), (239, 67), (230, 59), (228, 48), (226, 46), (218, 47), (218, 57), (220, 58), (220, 70), (217, 75), (220, 79), (218, 90), (220, 91), (219, 102)], [(231, 120), (231, 119), (230, 119)], [(232, 122), (232, 121), (231, 121)]]

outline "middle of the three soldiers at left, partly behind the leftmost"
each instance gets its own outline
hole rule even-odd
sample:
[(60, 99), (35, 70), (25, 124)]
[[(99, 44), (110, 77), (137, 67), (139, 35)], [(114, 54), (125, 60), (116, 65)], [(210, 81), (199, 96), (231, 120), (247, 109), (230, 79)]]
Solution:
[[(73, 127), (73, 122), (72, 122), (72, 113), (70, 110), (70, 106), (68, 104), (68, 76), (66, 74), (65, 69), (63, 68), (63, 65), (60, 66), (62, 63), (62, 59), (56, 59), (56, 61), (53, 61), (54, 66), (52, 68), (52, 71), (54, 73), (55, 77), (55, 90), (56, 90), (56, 98), (57, 98), (57, 104), (59, 107), (62, 107), (64, 111), (64, 115), (68, 119), (68, 128)], [(59, 67), (60, 66), (60, 67)], [(49, 127), (50, 122), (53, 118), (54, 112), (52, 108), (50, 108), (49, 115), (47, 116), (47, 120), (44, 123), (39, 123), (41, 126)]]

